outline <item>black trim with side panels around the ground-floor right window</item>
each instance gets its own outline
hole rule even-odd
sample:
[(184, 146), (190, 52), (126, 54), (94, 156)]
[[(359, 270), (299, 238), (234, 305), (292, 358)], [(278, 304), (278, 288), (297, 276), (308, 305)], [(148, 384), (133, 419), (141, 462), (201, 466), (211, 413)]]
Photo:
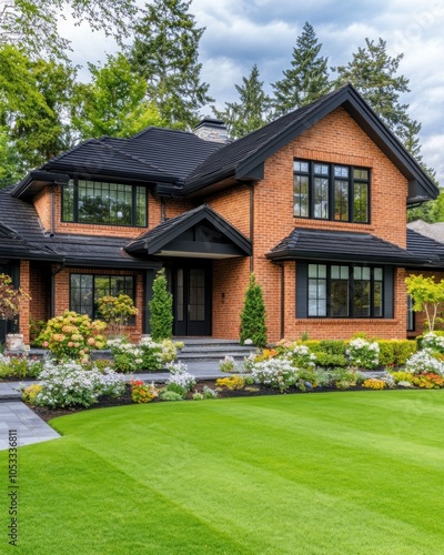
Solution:
[[(309, 315), (309, 265), (314, 264), (316, 266), (326, 266), (326, 313), (325, 315)], [(354, 280), (354, 268), (369, 268), (371, 269), (371, 302), (372, 311), (371, 315), (354, 315), (353, 314), (353, 286), (349, 286), (349, 315), (344, 316), (332, 316), (331, 315), (331, 268), (332, 266), (349, 266), (349, 275)], [(374, 280), (374, 270), (382, 269), (382, 280)], [(319, 271), (317, 271), (319, 272)], [(374, 295), (374, 284), (381, 283), (382, 302), (381, 302), (381, 315), (374, 315), (375, 305), (373, 301)], [(329, 262), (323, 261), (303, 261), (296, 262), (296, 319), (309, 319), (312, 321), (316, 320), (386, 320), (393, 319), (393, 291), (394, 291), (394, 275), (393, 268), (384, 264), (361, 264), (361, 263), (350, 263), (350, 262)]]

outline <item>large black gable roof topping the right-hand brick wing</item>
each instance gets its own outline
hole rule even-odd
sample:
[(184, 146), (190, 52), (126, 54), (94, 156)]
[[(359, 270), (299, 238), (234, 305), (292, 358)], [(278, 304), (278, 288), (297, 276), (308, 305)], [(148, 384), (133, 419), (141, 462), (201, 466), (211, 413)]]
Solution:
[(340, 107), (347, 111), (408, 180), (411, 203), (436, 198), (438, 190), (433, 181), (351, 84), (345, 84), (209, 155), (186, 180), (184, 192), (192, 193), (228, 178), (260, 178), (263, 172), (261, 167), (268, 158)]

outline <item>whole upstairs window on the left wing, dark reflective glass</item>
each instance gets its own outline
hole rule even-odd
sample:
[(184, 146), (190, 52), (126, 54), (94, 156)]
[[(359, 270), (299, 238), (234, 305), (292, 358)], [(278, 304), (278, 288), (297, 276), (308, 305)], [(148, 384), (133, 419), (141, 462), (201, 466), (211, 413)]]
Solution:
[(70, 180), (62, 189), (62, 221), (145, 228), (147, 188)]

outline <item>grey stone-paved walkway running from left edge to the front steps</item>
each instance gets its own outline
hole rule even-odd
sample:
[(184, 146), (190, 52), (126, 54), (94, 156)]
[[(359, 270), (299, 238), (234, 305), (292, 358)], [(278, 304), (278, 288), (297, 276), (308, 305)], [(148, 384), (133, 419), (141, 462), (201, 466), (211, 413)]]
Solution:
[[(190, 374), (198, 381), (215, 380), (228, 374), (219, 371), (219, 362), (189, 362)], [(135, 377), (147, 382), (164, 383), (170, 376), (169, 372), (147, 372), (135, 374)], [(125, 375), (127, 381), (132, 375)], [(60, 437), (43, 420), (21, 402), (21, 387), (37, 383), (36, 381), (0, 383), (0, 451), (9, 448), (9, 432), (17, 431), (18, 446), (46, 442)]]

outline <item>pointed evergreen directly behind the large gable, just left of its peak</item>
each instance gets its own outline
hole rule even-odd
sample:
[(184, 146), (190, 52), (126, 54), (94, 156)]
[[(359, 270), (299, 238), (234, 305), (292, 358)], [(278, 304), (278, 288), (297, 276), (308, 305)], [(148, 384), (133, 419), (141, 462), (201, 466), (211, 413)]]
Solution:
[(329, 59), (320, 57), (321, 48), (313, 27), (306, 22), (293, 48), (292, 67), (283, 72), (281, 81), (272, 84), (275, 117), (310, 104), (329, 92)]

